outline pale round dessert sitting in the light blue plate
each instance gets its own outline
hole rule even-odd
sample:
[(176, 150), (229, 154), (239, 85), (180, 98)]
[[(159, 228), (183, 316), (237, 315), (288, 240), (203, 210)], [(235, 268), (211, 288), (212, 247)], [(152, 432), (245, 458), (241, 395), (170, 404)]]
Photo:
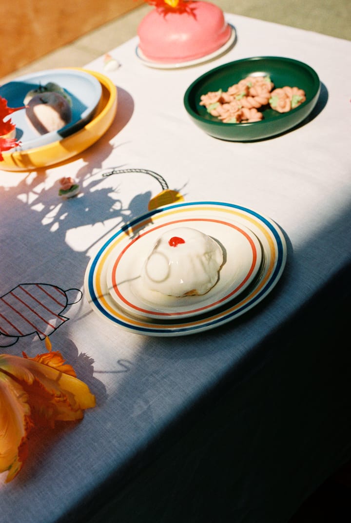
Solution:
[(31, 125), (40, 133), (58, 131), (72, 119), (68, 101), (59, 93), (41, 93), (29, 100), (26, 116)]

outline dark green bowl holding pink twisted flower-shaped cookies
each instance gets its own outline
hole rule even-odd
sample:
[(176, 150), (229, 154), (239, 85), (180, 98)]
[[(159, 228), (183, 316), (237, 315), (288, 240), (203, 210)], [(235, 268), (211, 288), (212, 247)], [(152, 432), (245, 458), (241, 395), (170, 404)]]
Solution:
[[(263, 112), (263, 120), (250, 123), (223, 123), (200, 105), (201, 95), (219, 89), (226, 91), (231, 85), (252, 75), (269, 76), (275, 88), (286, 85), (299, 87), (304, 90), (306, 100), (285, 113), (269, 106), (258, 109)], [(233, 142), (249, 142), (273, 137), (298, 126), (314, 108), (320, 90), (318, 74), (309, 65), (291, 58), (255, 56), (220, 65), (201, 75), (187, 88), (184, 105), (194, 123), (211, 136)]]

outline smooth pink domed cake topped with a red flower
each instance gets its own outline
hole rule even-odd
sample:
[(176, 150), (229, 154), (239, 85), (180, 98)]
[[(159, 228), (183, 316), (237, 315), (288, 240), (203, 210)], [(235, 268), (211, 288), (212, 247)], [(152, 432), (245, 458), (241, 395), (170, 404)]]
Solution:
[(139, 49), (148, 60), (180, 63), (220, 49), (231, 37), (222, 10), (201, 0), (149, 0), (155, 5), (138, 28)]

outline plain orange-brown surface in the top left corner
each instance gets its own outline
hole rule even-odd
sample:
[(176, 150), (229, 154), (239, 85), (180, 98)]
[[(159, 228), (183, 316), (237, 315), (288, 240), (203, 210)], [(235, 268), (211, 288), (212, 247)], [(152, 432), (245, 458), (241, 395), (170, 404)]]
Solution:
[(0, 77), (142, 4), (143, 0), (2, 0)]

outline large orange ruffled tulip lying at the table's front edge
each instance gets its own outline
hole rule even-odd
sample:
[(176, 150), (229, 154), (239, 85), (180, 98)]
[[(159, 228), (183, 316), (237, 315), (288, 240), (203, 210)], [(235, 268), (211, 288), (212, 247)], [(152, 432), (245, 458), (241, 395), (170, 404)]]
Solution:
[(58, 351), (35, 358), (0, 355), (0, 472), (8, 471), (6, 483), (18, 474), (27, 457), (30, 430), (56, 420), (82, 419), (95, 406), (95, 396), (76, 378)]

